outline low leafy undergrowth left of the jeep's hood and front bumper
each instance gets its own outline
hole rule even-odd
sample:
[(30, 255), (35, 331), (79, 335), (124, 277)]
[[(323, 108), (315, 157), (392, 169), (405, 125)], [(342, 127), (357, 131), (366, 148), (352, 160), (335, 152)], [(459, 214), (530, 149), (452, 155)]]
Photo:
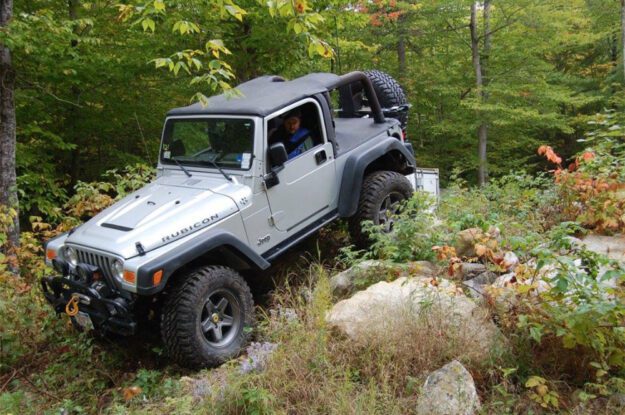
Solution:
[[(114, 182), (81, 184), (60, 215), (64, 222), (92, 214), (106, 194), (110, 203), (136, 189), (153, 175), (145, 166), (108, 173)], [(77, 206), (82, 205), (82, 208)], [(0, 242), (15, 211), (2, 209)], [(43, 263), (41, 240), (37, 237), (56, 232), (40, 218), (33, 218), (36, 234), (23, 232), (17, 252), (20, 278), (8, 272), (7, 258), (0, 256), (0, 408), (5, 413), (86, 414), (97, 412), (107, 396), (111, 405), (124, 405), (120, 392), (127, 384), (129, 362), (155, 359), (149, 344), (131, 347), (77, 333), (67, 316), (57, 316), (40, 289), (40, 278), (50, 272)], [(63, 226), (63, 223), (60, 225)], [(178, 382), (157, 370), (139, 369), (131, 385), (141, 389), (146, 399), (164, 399), (175, 394)]]

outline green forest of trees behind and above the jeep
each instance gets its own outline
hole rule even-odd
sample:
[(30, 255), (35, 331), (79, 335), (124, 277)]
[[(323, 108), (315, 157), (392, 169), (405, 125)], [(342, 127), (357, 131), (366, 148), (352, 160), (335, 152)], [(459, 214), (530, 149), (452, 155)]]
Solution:
[(622, 0), (23, 0), (7, 19), (9, 3), (2, 76), (25, 226), (54, 222), (79, 180), (154, 165), (168, 109), (262, 74), (390, 73), (418, 164), (443, 185), (453, 171), (483, 183), (544, 170), (540, 144), (566, 159), (594, 114), (625, 105)]

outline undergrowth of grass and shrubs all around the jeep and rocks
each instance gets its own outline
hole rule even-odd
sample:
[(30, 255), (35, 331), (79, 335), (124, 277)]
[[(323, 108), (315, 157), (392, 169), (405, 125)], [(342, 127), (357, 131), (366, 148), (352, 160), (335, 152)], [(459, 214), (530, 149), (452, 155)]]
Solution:
[[(370, 225), (371, 250), (343, 250), (342, 263), (286, 266), (276, 278), (280, 286), (258, 309), (255, 340), (277, 344), (265, 370), (242, 370), (249, 365), (234, 360), (186, 377), (165, 366), (158, 340), (76, 333), (66, 318), (54, 316), (38, 286), (45, 272), (41, 239), (97, 213), (151, 174), (126, 173), (110, 183), (80, 184), (52, 224), (33, 218), (33, 232), (22, 234), (17, 252), (19, 279), (0, 258), (0, 412), (410, 414), (427, 374), (456, 358), (476, 380), (484, 413), (574, 407), (610, 413), (606, 398), (625, 391), (625, 271), (575, 245), (570, 236), (585, 230), (561, 223), (569, 201), (549, 175), (514, 173), (482, 189), (456, 180), (436, 207), (424, 195), (410, 200), (393, 233)], [(365, 344), (327, 325), (334, 267), (382, 260), (386, 271), (361, 281), (367, 285), (413, 273), (406, 264), (416, 260), (453, 273), (448, 258), (467, 228), (497, 243), (484, 242), (483, 252), (457, 260), (503, 273), (498, 252), (521, 259), (484, 303), (507, 339), (504, 350), (478, 350), (467, 332), (435, 310), (392, 333), (380, 330)]]

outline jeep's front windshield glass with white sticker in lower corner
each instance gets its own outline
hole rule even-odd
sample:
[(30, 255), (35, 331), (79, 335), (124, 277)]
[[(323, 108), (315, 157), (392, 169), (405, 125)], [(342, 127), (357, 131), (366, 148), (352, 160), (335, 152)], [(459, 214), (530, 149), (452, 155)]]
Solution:
[(254, 122), (249, 118), (170, 119), (161, 162), (248, 170), (253, 144)]

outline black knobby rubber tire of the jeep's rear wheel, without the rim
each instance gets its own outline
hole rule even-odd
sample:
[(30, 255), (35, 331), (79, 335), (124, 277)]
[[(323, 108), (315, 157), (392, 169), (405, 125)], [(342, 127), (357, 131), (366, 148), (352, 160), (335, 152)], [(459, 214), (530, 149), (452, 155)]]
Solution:
[[(371, 173), (362, 184), (360, 200), (356, 214), (349, 219), (349, 233), (352, 242), (358, 248), (366, 248), (371, 243), (362, 230), (364, 221), (380, 224), (379, 213), (382, 203), (393, 195), (398, 202), (412, 196), (412, 185), (405, 176), (394, 171), (376, 171)], [(390, 230), (390, 229), (389, 229)]]

